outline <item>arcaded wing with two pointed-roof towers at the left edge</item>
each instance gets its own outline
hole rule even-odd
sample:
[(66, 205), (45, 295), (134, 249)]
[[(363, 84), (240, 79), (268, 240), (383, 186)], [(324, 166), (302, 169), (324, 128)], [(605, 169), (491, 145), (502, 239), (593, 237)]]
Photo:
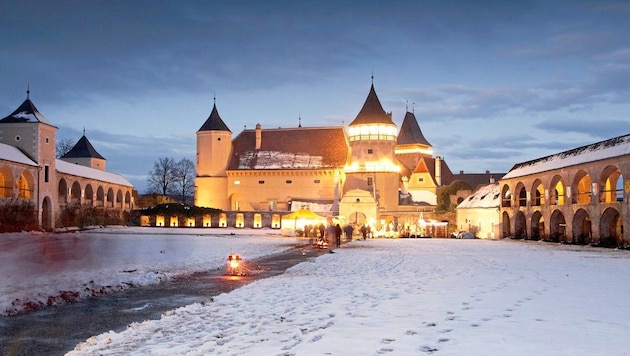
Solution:
[[(61, 159), (56, 158), (56, 133), (29, 91), (17, 109), (0, 120), (0, 204), (32, 203), (37, 223), (45, 230), (72, 224), (77, 210), (112, 218), (129, 212), (134, 205), (132, 184), (105, 171), (105, 158), (85, 133)], [(70, 210), (72, 214), (65, 214)]]

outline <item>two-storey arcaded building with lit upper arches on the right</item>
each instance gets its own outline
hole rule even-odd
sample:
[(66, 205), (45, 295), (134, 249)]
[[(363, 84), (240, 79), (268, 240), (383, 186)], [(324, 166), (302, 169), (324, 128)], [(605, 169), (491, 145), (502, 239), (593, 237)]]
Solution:
[(630, 135), (516, 164), (500, 181), (502, 237), (630, 246)]

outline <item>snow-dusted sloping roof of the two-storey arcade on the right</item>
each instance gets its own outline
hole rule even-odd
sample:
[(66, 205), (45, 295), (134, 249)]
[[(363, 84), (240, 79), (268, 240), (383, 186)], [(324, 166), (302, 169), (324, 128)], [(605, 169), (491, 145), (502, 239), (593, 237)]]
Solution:
[(601, 161), (630, 154), (630, 134), (574, 148), (532, 161), (517, 163), (502, 178), (510, 179), (547, 172), (577, 164)]

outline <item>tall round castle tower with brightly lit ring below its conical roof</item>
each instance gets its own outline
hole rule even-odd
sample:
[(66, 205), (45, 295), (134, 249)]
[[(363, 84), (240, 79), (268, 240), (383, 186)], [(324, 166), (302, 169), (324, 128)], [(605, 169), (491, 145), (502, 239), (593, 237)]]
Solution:
[(344, 192), (354, 189), (370, 192), (378, 211), (398, 207), (400, 169), (394, 158), (396, 131), (391, 114), (383, 110), (372, 84), (363, 108), (348, 126), (352, 155), (346, 167)]

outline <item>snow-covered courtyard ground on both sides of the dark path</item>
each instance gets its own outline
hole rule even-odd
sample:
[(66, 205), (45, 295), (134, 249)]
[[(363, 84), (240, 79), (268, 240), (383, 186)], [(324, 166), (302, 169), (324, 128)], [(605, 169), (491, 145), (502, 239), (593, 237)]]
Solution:
[[(230, 252), (254, 258), (300, 243), (274, 236), (124, 230), (53, 238), (67, 239), (68, 247), (86, 238), (125, 243), (119, 241), (117, 251), (89, 254), (89, 263), (80, 262), (81, 250), (63, 252), (71, 254), (64, 255), (69, 262), (63, 268), (56, 265), (61, 262), (44, 261), (51, 266), (48, 277), (22, 284), (15, 276), (3, 277), (4, 309), (16, 295), (28, 298), (27, 288), (34, 288), (30, 298), (37, 299), (33, 295), (54, 294), (53, 285), (71, 290), (90, 280), (103, 284), (94, 279), (99, 274), (112, 286), (149, 283), (154, 276), (217, 268)], [(38, 268), (20, 261), (28, 251), (12, 252), (6, 243), (4, 238), (0, 257), (12, 263), (2, 264), (3, 276), (22, 278)], [(70, 268), (72, 261), (82, 270)], [(68, 354), (622, 355), (628, 353), (630, 332), (629, 262), (625, 250), (544, 242), (355, 241), (283, 275), (167, 312), (161, 320), (95, 335)]]

